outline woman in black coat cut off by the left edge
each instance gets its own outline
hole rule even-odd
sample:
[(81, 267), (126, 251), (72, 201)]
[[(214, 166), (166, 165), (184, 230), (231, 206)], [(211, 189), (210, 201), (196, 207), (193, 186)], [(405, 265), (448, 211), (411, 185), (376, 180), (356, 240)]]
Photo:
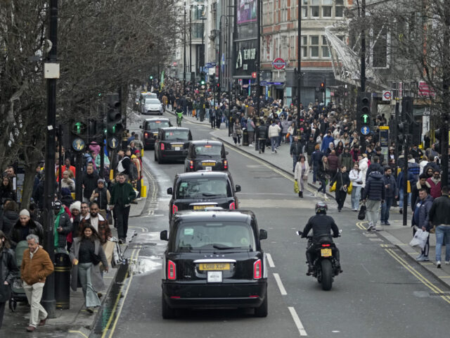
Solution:
[(14, 277), (19, 274), (19, 269), (15, 265), (14, 251), (10, 248), (4, 232), (0, 231), (0, 329), (6, 301), (11, 297), (11, 284), (13, 284)]

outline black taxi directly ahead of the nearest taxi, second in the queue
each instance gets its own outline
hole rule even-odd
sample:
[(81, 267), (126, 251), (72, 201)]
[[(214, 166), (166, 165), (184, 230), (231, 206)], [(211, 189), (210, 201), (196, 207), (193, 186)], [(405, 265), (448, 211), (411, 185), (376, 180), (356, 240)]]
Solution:
[(240, 185), (233, 184), (229, 172), (202, 170), (176, 174), (173, 187), (167, 189), (167, 194), (172, 195), (169, 220), (181, 210), (203, 211), (211, 207), (237, 209), (236, 192), (240, 192)]

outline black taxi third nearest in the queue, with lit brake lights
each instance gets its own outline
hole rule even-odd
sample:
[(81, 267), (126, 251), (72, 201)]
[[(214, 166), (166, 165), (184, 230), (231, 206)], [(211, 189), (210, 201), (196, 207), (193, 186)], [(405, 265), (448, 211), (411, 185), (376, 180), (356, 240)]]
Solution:
[(228, 170), (226, 159), (228, 151), (220, 141), (200, 140), (189, 145), (188, 156), (184, 161), (184, 171)]

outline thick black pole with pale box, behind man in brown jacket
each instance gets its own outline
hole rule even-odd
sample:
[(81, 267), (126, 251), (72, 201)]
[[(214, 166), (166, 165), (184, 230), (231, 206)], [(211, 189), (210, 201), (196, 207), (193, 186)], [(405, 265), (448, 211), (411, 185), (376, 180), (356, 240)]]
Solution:
[[(49, 63), (58, 61), (58, 0), (50, 0), (49, 35), (51, 49)], [(47, 127), (45, 146), (45, 182), (44, 182), (44, 249), (49, 253), (50, 259), (55, 260), (54, 251), (54, 216), (53, 201), (55, 200), (55, 151), (56, 151), (56, 78), (47, 79)], [(55, 274), (47, 276), (44, 285), (44, 294), (41, 304), (49, 313), (49, 318), (55, 318)]]

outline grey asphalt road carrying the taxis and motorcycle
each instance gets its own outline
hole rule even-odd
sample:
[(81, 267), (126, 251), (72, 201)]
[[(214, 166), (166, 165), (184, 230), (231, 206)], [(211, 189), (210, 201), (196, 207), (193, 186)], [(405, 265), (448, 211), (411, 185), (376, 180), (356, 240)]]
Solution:
[[(133, 126), (139, 127), (139, 121)], [(210, 137), (205, 125), (184, 126), (191, 128), (194, 139)], [(165, 242), (159, 232), (168, 228), (166, 189), (183, 166), (158, 165), (153, 151), (146, 151), (143, 161), (154, 184), (143, 215), (130, 219), (137, 233), (127, 249), (131, 273), (111, 309), (113, 318), (101, 318), (103, 332), (94, 336), (448, 337), (449, 289), (378, 234), (361, 230), (355, 213), (338, 213), (333, 201), (329, 214), (342, 229), (335, 242), (344, 273), (335, 278), (330, 292), (323, 292), (305, 275), (306, 241), (295, 235), (314, 214), (319, 199), (311, 192), (300, 199), (290, 177), (239, 150), (227, 150), (233, 180), (242, 187), (240, 208), (254, 211), (259, 227), (269, 232), (263, 242), (271, 256), (268, 317), (209, 310), (182, 311), (175, 320), (162, 319), (160, 258)]]

